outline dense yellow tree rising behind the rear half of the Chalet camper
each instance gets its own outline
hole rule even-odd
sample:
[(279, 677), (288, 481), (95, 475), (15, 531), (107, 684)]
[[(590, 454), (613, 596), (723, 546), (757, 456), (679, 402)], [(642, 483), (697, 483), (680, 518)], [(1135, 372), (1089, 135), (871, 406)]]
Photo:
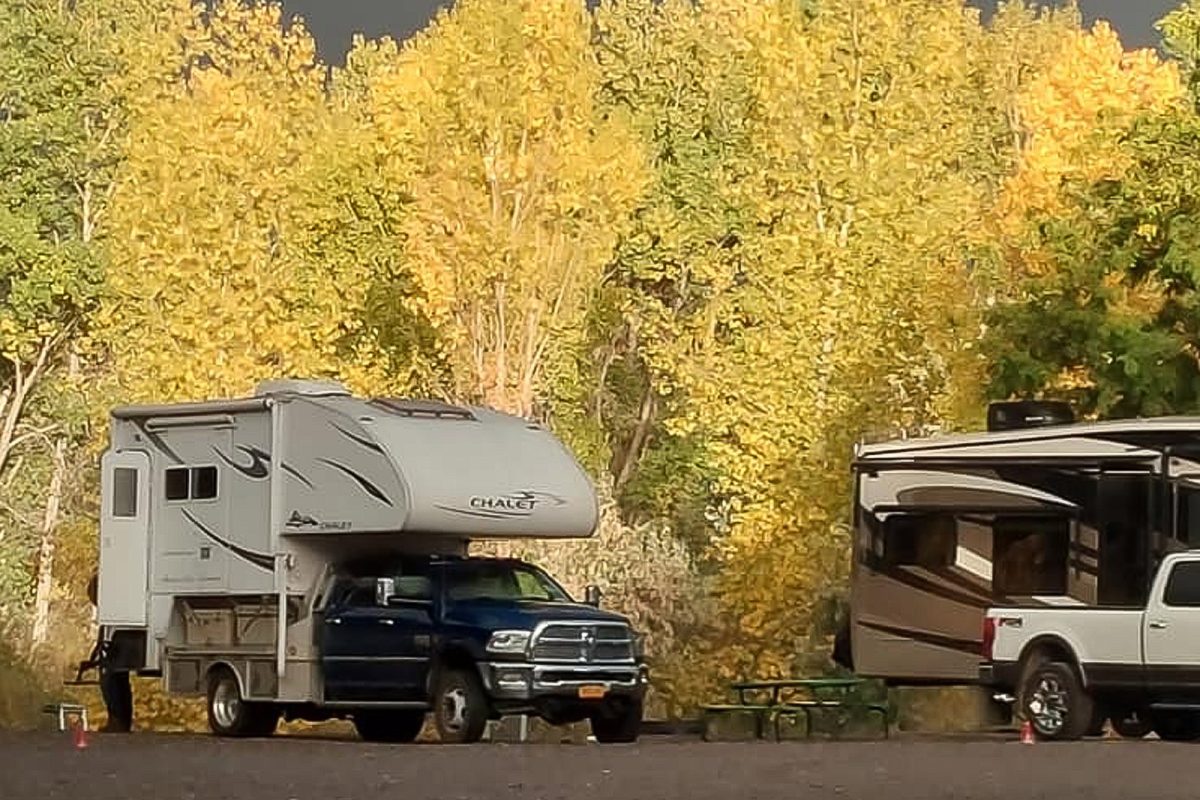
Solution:
[(220, 2), (180, 41), (181, 74), (133, 104), (112, 204), (103, 323), (118, 391), (198, 399), (336, 375), (361, 282), (293, 241), (314, 170), (328, 178), (338, 151), (312, 38), (284, 30), (276, 5)]

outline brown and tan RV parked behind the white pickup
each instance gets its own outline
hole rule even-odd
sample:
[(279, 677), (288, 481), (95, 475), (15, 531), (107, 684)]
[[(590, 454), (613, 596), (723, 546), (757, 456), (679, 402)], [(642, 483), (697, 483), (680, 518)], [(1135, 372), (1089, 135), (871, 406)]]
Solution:
[(1140, 607), (1200, 545), (1200, 417), (997, 403), (986, 432), (860, 444), (852, 473), (835, 657), (893, 685), (976, 684), (989, 607)]

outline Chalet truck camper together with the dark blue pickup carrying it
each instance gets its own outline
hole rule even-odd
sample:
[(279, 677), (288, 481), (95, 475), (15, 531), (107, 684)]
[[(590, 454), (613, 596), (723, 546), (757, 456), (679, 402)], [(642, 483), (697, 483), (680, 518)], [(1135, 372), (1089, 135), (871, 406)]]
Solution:
[(206, 697), (222, 735), (342, 717), (410, 741), (432, 714), (467, 742), (533, 714), (637, 738), (648, 675), (630, 622), (590, 588), (577, 602), (535, 565), (468, 554), (595, 531), (590, 481), (541, 426), (306, 380), (116, 408), (110, 426), (82, 669), (100, 669), (119, 726), (136, 673)]

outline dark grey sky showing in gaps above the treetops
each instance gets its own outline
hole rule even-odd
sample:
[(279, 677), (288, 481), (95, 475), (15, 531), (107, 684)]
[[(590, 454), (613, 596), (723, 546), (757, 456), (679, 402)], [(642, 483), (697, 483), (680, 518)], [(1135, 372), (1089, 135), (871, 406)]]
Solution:
[[(996, 0), (970, 0), (984, 10)], [(1158, 44), (1154, 20), (1178, 5), (1180, 0), (1080, 0), (1088, 23), (1110, 20), (1121, 32), (1126, 47)], [(288, 16), (300, 14), (317, 36), (322, 56), (341, 64), (350, 36), (362, 32), (368, 38), (391, 35), (397, 38), (420, 30), (440, 6), (450, 0), (283, 0)]]

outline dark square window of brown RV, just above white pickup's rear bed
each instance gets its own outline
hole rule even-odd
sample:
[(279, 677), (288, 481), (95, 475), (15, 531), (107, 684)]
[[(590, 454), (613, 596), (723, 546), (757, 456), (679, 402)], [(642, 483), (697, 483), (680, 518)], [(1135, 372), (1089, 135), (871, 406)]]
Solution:
[(1067, 594), (1069, 519), (996, 517), (991, 531), (992, 588), (997, 595)]

